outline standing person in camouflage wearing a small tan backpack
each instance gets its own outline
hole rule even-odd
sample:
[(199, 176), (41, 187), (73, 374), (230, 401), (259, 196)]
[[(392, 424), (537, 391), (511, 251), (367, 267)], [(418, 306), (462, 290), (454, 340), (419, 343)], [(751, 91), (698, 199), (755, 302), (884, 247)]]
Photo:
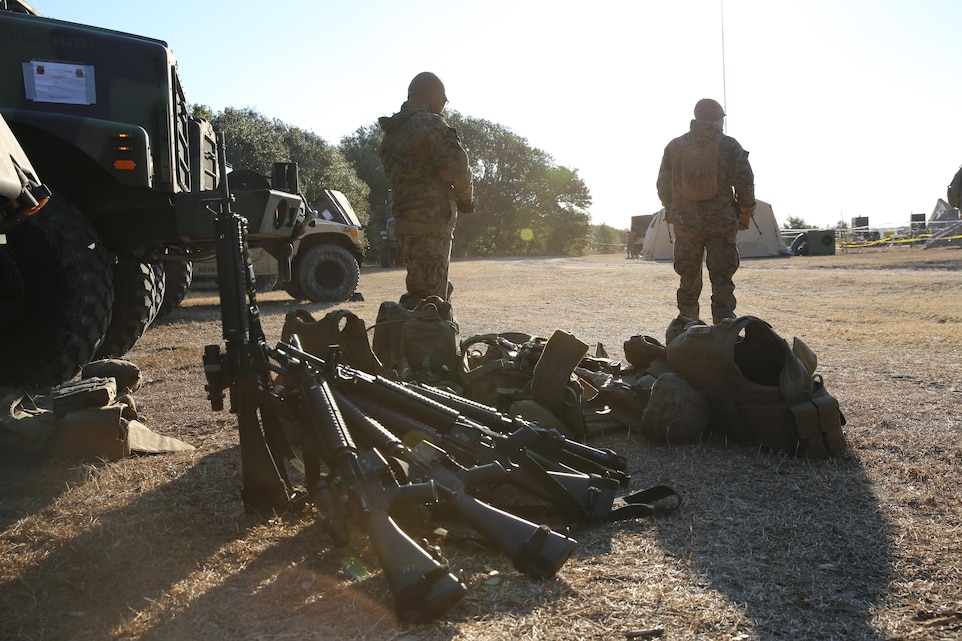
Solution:
[[(711, 313), (716, 324), (735, 316), (735, 283), (738, 249), (735, 237), (748, 229), (755, 214), (755, 176), (748, 152), (738, 141), (722, 134), (725, 112), (718, 102), (705, 98), (695, 105), (690, 130), (665, 147), (658, 172), (658, 197), (668, 221), (675, 227), (674, 263), (680, 277), (678, 313), (699, 318), (698, 297), (702, 289), (702, 257), (711, 281)], [(720, 136), (720, 138), (719, 138)], [(708, 200), (682, 196), (678, 153), (693, 138), (718, 140), (718, 193)]]

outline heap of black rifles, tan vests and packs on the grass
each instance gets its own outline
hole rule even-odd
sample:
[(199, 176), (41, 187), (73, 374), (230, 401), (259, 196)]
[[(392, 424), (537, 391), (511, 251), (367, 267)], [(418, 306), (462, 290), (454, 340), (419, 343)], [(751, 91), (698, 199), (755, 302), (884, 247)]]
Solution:
[[(811, 457), (845, 450), (844, 417), (815, 373), (815, 355), (797, 339), (789, 348), (755, 317), (711, 326), (679, 317), (667, 346), (644, 335), (626, 341), (627, 365), (602, 345), (589, 356), (586, 343), (560, 330), (548, 339), (461, 341), (450, 304), (434, 297), (382, 303), (372, 329), (369, 341), (349, 311), (314, 319), (294, 310), (276, 348), (241, 350), (266, 358), (242, 375), (230, 372), (231, 342), (226, 353), (208, 346), (207, 389), (214, 409), (227, 387), (256, 390), (231, 395), (241, 400), (232, 409), (245, 506), (313, 505), (337, 545), (356, 523), (403, 620), (439, 616), (466, 588), (443, 557), (406, 533), (426, 520), (402, 526), (390, 515), (454, 516), (519, 571), (545, 579), (573, 551), (573, 527), (676, 509), (681, 498), (664, 485), (619, 496), (630, 481), (627, 461), (584, 443), (601, 429), (637, 427), (667, 443), (718, 432)], [(293, 469), (303, 471), (302, 483)], [(533, 513), (561, 527), (522, 516)]]

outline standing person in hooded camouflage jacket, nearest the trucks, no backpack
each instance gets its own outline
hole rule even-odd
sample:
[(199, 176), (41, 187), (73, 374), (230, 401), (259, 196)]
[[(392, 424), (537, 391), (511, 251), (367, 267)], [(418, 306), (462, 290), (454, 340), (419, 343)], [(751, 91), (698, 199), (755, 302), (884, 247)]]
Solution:
[(391, 182), (391, 211), (407, 262), (401, 303), (410, 307), (428, 296), (450, 298), (454, 227), (459, 212), (474, 211), (468, 155), (441, 116), (447, 101), (441, 80), (425, 71), (411, 81), (401, 110), (378, 120), (384, 130), (381, 163)]

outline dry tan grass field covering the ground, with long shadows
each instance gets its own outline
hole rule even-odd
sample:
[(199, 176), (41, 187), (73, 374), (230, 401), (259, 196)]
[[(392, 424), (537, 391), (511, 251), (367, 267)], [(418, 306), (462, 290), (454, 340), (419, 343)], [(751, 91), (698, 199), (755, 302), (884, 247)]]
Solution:
[[(243, 513), (233, 416), (204, 399), (220, 341), (212, 290), (129, 354), (148, 425), (178, 455), (0, 466), (3, 639), (957, 639), (962, 637), (962, 253), (897, 249), (745, 261), (739, 312), (799, 336), (845, 412), (851, 456), (795, 459), (725, 443), (594, 444), (632, 488), (685, 497), (667, 517), (583, 528), (557, 578), (531, 581), (470, 533), (438, 541), (469, 584), (446, 618), (405, 626), (370, 550), (335, 549), (306, 517)], [(620, 255), (453, 266), (462, 337), (565, 329), (613, 357), (674, 316), (668, 264)], [(368, 268), (373, 322), (403, 272)], [(271, 341), (293, 303), (263, 296)], [(324, 309), (311, 306), (315, 315)], [(370, 571), (352, 580), (360, 559)]]

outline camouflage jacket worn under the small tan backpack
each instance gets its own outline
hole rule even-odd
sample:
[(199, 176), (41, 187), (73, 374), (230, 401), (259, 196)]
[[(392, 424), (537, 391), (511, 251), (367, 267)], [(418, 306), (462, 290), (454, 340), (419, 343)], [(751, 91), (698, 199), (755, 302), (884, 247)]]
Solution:
[[(675, 158), (682, 146), (692, 138), (715, 138), (721, 127), (706, 120), (692, 120), (691, 129), (675, 138), (665, 147), (658, 171), (658, 198), (665, 209), (677, 218), (698, 217), (706, 214), (731, 216), (734, 222), (737, 208), (755, 207), (755, 175), (748, 163), (748, 152), (731, 136), (722, 136), (718, 146), (718, 195), (709, 200), (695, 202), (681, 195), (681, 176), (672, 171)], [(733, 207), (732, 205), (736, 205)]]

